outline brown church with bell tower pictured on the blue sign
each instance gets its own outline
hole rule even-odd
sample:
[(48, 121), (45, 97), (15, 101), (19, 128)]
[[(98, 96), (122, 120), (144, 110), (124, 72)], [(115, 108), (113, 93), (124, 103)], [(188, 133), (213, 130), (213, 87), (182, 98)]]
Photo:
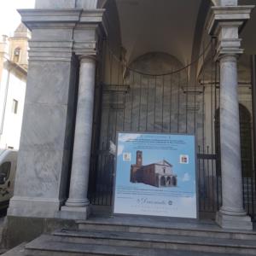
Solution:
[(177, 187), (177, 175), (166, 160), (143, 166), (143, 152), (137, 151), (136, 164), (131, 165), (131, 183), (144, 183), (154, 187)]

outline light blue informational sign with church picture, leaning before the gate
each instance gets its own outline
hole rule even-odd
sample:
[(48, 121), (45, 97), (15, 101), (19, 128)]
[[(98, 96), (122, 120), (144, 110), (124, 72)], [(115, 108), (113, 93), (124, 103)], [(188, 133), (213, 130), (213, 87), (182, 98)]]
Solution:
[(195, 136), (119, 133), (113, 213), (197, 218)]

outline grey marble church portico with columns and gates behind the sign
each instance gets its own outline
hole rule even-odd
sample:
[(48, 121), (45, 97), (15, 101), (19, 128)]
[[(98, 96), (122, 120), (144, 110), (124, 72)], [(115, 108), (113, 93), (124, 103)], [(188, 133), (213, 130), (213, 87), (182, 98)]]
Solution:
[(252, 230), (252, 4), (37, 0), (20, 10), (32, 39), (9, 221), (111, 209), (110, 145), (140, 131), (195, 134), (201, 216)]

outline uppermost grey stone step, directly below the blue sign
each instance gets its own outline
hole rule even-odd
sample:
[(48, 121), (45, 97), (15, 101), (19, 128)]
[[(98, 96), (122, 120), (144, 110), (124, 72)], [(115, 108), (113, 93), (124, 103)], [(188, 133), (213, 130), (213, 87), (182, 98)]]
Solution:
[(213, 221), (175, 218), (90, 218), (78, 221), (79, 230), (106, 230), (174, 236), (201, 236), (223, 239), (253, 240), (255, 231), (223, 230)]

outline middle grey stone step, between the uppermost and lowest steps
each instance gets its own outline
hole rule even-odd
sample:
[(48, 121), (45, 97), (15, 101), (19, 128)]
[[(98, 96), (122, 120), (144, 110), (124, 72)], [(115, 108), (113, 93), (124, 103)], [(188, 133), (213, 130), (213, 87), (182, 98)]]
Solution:
[(54, 236), (55, 241), (61, 242), (256, 255), (256, 243), (252, 240), (223, 239), (207, 236), (157, 235), (106, 230), (61, 230), (55, 232)]

